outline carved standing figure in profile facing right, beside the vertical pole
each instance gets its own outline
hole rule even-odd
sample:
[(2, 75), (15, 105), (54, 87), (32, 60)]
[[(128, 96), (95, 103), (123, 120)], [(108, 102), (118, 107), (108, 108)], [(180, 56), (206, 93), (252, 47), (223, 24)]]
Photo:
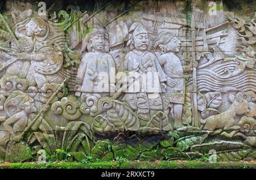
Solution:
[[(184, 72), (192, 72), (192, 64), (182, 66), (179, 57), (175, 53), (180, 51), (181, 41), (171, 32), (161, 32), (154, 41), (154, 48), (161, 49), (158, 58), (167, 76), (166, 93), (163, 98), (168, 101), (170, 107), (164, 107), (167, 114), (174, 120), (174, 128), (182, 127), (181, 116), (185, 97)], [(197, 62), (193, 62), (197, 66)]]

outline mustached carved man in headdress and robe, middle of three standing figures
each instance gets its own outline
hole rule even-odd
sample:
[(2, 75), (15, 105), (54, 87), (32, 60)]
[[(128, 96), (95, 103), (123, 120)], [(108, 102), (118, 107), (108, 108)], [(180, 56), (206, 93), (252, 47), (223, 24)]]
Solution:
[(129, 33), (127, 46), (131, 51), (125, 56), (125, 70), (133, 71), (133, 75), (138, 74), (140, 78), (139, 86), (127, 88), (124, 100), (142, 119), (148, 119), (154, 110), (163, 109), (160, 93), (165, 91), (167, 79), (154, 53), (147, 50), (150, 37), (146, 28), (136, 22)]

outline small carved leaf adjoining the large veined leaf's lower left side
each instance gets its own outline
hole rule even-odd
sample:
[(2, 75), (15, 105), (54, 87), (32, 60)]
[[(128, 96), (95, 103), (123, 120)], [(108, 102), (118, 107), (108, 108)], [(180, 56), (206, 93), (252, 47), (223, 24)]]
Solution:
[(102, 115), (96, 116), (92, 124), (92, 131), (94, 133), (111, 133), (118, 132), (118, 129), (114, 127), (112, 123), (109, 122), (107, 118)]

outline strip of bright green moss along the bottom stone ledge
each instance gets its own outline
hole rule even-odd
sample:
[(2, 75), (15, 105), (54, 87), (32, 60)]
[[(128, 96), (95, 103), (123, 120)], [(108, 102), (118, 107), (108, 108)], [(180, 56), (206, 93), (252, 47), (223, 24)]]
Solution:
[(141, 162), (123, 162), (118, 164), (117, 162), (90, 162), (88, 164), (75, 163), (75, 162), (47, 162), (47, 163), (1, 163), (0, 169), (98, 169), (98, 168), (129, 168), (129, 169), (144, 169), (144, 168), (158, 168), (158, 169), (177, 169), (177, 168), (189, 168), (189, 169), (216, 169), (216, 168), (256, 168), (256, 162), (216, 162), (210, 164), (209, 162), (200, 161), (141, 161)]

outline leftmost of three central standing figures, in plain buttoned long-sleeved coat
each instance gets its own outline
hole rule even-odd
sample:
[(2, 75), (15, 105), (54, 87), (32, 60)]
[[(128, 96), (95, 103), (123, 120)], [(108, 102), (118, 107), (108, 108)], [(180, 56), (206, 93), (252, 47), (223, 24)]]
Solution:
[(76, 96), (85, 100), (94, 94), (98, 98), (115, 91), (115, 62), (108, 53), (108, 32), (94, 25), (82, 47), (88, 50), (81, 60), (76, 78)]

